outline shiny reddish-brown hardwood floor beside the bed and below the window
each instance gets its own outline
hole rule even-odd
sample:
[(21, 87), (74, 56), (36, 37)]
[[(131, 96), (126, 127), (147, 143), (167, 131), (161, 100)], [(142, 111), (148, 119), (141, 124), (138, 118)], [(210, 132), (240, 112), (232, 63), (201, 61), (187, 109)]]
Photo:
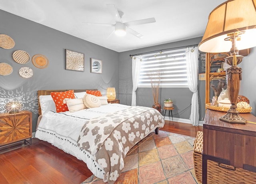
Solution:
[[(202, 129), (165, 121), (160, 130), (196, 137)], [(0, 154), (0, 184), (80, 184), (91, 175), (84, 162), (37, 138), (32, 146)]]

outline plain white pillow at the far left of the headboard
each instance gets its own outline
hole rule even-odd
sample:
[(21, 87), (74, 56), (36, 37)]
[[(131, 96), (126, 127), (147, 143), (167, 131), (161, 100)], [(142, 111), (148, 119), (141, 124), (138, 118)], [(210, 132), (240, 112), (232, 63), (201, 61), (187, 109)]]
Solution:
[(42, 115), (47, 111), (56, 111), (56, 106), (51, 95), (40, 95), (39, 102)]

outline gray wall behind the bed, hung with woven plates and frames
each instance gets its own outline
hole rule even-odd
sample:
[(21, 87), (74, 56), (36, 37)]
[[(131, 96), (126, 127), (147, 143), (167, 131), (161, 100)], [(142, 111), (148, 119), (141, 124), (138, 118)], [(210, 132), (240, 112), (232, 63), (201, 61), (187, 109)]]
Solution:
[[(22, 101), (26, 110), (32, 111), (32, 132), (36, 130), (38, 118), (37, 90), (41, 89), (99, 89), (106, 94), (107, 87), (119, 89), (118, 53), (92, 44), (52, 28), (15, 16), (0, 10), (0, 34), (6, 34), (15, 41), (12, 49), (0, 48), (0, 63), (13, 67), (10, 75), (0, 75), (0, 113), (10, 100)], [(84, 53), (84, 72), (65, 69), (65, 49)], [(24, 50), (32, 58), (43, 54), (49, 60), (45, 69), (29, 63), (19, 64), (12, 59), (12, 53)], [(102, 59), (102, 74), (90, 73), (90, 58)], [(23, 78), (18, 71), (30, 67), (34, 74)]]

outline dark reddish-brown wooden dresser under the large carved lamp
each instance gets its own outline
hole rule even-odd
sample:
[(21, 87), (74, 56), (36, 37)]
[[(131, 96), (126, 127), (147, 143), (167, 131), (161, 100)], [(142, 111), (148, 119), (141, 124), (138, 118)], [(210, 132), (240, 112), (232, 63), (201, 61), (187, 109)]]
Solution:
[(256, 117), (241, 113), (254, 123), (220, 121), (226, 113), (207, 109), (203, 125), (202, 183), (207, 183), (207, 160), (256, 172)]

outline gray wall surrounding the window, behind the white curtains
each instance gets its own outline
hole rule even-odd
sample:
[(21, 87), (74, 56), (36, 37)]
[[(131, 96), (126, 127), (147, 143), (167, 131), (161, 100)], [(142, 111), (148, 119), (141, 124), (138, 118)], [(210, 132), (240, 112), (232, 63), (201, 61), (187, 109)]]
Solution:
[[(159, 46), (146, 47), (119, 53), (119, 97), (120, 103), (131, 105), (132, 103), (132, 59), (130, 54), (144, 53), (161, 49), (189, 46), (199, 44), (202, 37), (163, 44)], [(199, 101), (200, 101), (200, 120), (205, 114), (205, 81), (198, 81)], [(151, 88), (138, 88), (137, 105), (152, 107), (154, 104)], [(182, 119), (190, 118), (192, 92), (188, 88), (161, 88), (159, 101), (164, 107), (164, 99), (171, 98), (174, 104), (173, 116)], [(189, 107), (189, 108), (187, 108)], [(203, 107), (203, 108), (201, 108)], [(186, 109), (187, 108), (187, 109)], [(185, 111), (183, 111), (186, 109)]]

